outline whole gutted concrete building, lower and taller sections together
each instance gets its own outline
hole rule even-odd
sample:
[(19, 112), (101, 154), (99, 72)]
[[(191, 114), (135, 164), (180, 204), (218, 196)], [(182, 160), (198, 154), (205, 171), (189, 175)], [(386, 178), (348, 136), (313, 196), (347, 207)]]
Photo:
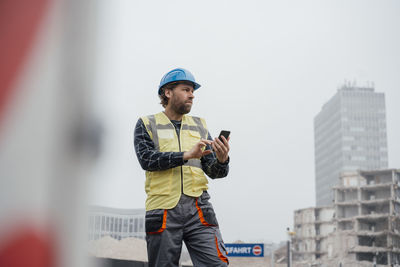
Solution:
[(334, 205), (295, 211), (294, 266), (400, 266), (400, 169), (339, 181)]

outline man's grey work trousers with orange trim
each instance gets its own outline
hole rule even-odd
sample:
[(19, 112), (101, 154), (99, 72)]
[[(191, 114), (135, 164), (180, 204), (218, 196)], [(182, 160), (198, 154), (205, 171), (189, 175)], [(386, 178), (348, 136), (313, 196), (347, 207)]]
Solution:
[(175, 208), (146, 212), (149, 267), (178, 267), (182, 241), (196, 267), (226, 267), (228, 257), (207, 191), (181, 196)]

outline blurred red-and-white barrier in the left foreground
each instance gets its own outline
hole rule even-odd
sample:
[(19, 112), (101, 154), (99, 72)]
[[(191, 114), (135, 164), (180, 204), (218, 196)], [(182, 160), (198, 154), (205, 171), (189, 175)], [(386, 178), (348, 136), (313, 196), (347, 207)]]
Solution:
[(0, 266), (88, 266), (95, 8), (0, 2)]

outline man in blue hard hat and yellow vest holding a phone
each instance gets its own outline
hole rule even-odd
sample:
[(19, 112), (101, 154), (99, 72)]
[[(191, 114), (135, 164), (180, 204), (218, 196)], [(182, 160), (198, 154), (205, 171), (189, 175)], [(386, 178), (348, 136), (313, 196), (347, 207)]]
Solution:
[(158, 89), (164, 112), (136, 124), (135, 151), (146, 170), (151, 267), (178, 266), (182, 241), (194, 266), (228, 265), (204, 173), (213, 179), (228, 174), (229, 138), (213, 140), (204, 119), (186, 115), (199, 87), (189, 71), (171, 70)]

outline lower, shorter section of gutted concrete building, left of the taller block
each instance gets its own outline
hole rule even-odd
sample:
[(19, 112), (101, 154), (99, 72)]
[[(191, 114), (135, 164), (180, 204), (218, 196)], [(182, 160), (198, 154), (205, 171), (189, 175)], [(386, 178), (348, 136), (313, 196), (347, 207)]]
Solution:
[[(334, 232), (333, 207), (296, 210), (292, 241), (293, 261), (318, 265), (332, 250), (329, 235)], [(308, 265), (309, 266), (309, 265)]]

